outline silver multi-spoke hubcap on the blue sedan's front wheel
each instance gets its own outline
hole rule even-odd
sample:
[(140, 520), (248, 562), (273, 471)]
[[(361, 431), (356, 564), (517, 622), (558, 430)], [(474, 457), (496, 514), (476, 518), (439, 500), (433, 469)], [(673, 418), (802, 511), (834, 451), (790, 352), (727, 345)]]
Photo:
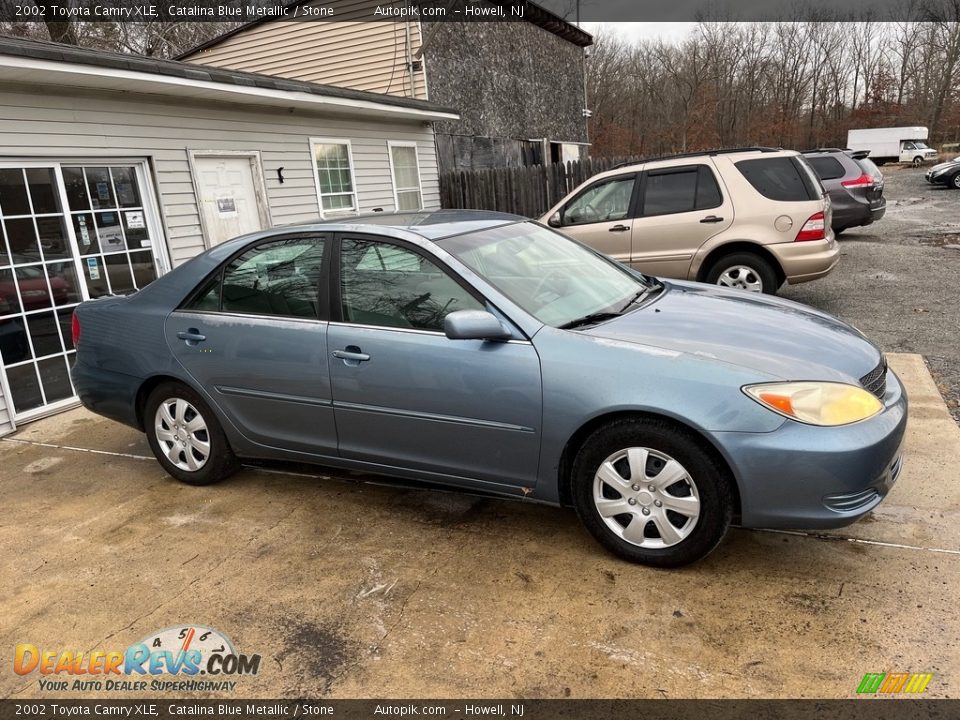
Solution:
[(627, 448), (604, 460), (594, 475), (593, 501), (617, 537), (642, 548), (682, 542), (700, 518), (700, 495), (690, 473), (650, 448)]

